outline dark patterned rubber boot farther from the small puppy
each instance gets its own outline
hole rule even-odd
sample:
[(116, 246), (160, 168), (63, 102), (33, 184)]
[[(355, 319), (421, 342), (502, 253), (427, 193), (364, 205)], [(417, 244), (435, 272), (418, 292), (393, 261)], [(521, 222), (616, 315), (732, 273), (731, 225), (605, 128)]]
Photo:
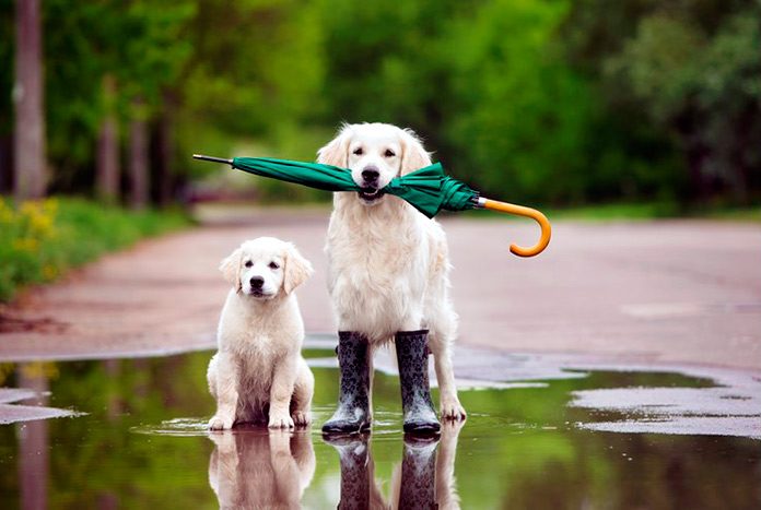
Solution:
[(436, 434), (441, 429), (431, 402), (428, 368), (428, 330), (396, 334), (405, 432)]

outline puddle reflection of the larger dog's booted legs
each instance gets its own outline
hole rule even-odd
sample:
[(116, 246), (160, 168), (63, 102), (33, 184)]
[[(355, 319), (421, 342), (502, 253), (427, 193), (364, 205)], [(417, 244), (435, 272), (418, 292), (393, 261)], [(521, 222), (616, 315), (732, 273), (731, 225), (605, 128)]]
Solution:
[(391, 501), (374, 477), (368, 435), (325, 437), (341, 460), (340, 510), (459, 509), (455, 486), (457, 437), (464, 422), (442, 423), (441, 438), (405, 437), (401, 465), (391, 477)]

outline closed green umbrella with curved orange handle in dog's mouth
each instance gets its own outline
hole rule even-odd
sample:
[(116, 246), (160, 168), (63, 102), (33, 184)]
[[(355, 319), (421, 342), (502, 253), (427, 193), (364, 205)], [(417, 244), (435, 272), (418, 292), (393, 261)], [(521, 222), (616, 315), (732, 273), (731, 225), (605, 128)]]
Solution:
[[(195, 154), (196, 159), (226, 163), (249, 174), (270, 177), (286, 182), (308, 186), (324, 191), (360, 191), (360, 186), (351, 177), (351, 170), (320, 163), (304, 163), (270, 157), (221, 157)], [(541, 227), (539, 242), (531, 248), (511, 245), (510, 251), (519, 257), (534, 257), (547, 248), (550, 242), (551, 226), (541, 212), (496, 200), (485, 199), (478, 191), (464, 182), (447, 176), (441, 163), (414, 170), (406, 176), (396, 177), (383, 188), (384, 193), (406, 200), (428, 217), (435, 216), (441, 210), (467, 211), (470, 209), (489, 209), (503, 213), (516, 214), (535, 220)]]

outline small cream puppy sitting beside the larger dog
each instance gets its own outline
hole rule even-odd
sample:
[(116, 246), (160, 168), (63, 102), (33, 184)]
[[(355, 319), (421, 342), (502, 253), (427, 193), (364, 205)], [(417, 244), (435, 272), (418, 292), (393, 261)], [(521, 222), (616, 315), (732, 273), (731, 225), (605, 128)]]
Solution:
[[(314, 376), (301, 355), (304, 321), (293, 290), (309, 277), (312, 264), (290, 242), (259, 237), (241, 245), (220, 270), (233, 288), (207, 373), (216, 399), (209, 428), (262, 420), (271, 428), (308, 424)], [(260, 288), (253, 278), (264, 280)]]

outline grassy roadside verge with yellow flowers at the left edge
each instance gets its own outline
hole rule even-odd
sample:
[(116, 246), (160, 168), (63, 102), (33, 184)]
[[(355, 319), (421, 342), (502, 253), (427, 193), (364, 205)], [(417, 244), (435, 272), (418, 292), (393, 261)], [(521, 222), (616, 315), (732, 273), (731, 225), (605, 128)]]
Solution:
[(187, 224), (175, 212), (128, 212), (80, 199), (14, 206), (0, 198), (0, 303), (19, 287), (50, 282), (107, 251)]

